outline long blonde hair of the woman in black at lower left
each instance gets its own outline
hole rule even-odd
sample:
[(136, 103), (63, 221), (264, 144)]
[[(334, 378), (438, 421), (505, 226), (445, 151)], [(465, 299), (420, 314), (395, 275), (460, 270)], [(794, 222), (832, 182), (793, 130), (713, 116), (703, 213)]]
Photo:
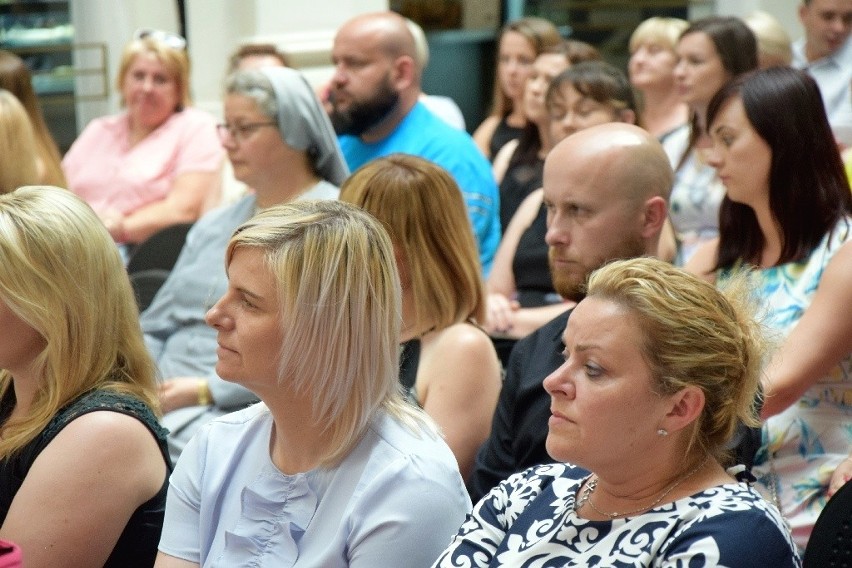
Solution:
[[(0, 195), (0, 300), (44, 339), (29, 413), (3, 425), (0, 457), (37, 436), (80, 395), (107, 389), (158, 409), (156, 367), (115, 243), (71, 192), (23, 187)], [(14, 377), (0, 371), (0, 396)]]

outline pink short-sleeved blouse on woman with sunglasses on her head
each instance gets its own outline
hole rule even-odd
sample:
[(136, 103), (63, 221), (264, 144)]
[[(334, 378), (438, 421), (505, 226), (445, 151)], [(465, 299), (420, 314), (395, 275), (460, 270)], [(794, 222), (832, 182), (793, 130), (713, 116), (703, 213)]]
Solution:
[(213, 117), (186, 108), (132, 148), (126, 113), (97, 118), (65, 154), (62, 168), (68, 187), (97, 213), (129, 215), (165, 199), (182, 173), (218, 172), (223, 157)]

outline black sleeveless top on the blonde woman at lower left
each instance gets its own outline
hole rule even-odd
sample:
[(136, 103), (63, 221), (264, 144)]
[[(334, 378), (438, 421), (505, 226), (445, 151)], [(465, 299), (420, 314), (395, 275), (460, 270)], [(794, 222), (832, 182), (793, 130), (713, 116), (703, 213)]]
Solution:
[[(4, 423), (15, 407), (15, 393), (7, 389), (0, 400), (0, 424)], [(121, 536), (107, 559), (105, 567), (147, 567), (154, 565), (157, 555), (157, 544), (163, 528), (163, 515), (166, 509), (166, 492), (169, 486), (169, 474), (172, 462), (166, 445), (168, 431), (157, 422), (156, 416), (146, 404), (139, 399), (106, 390), (87, 392), (76, 400), (68, 403), (57, 412), (47, 427), (33, 440), (12, 456), (0, 460), (0, 525), (9, 513), (12, 500), (21, 488), (24, 478), (39, 454), (56, 437), (59, 432), (72, 420), (89, 412), (109, 410), (132, 416), (145, 424), (160, 446), (167, 473), (160, 491), (146, 503), (133, 512)], [(62, 472), (57, 472), (61, 475)], [(60, 559), (57, 559), (59, 562)]]

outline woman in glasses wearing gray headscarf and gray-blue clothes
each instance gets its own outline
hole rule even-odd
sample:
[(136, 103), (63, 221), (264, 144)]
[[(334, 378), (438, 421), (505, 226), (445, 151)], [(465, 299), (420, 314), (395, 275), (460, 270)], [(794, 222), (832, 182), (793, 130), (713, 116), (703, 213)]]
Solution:
[(216, 376), (216, 332), (204, 322), (227, 289), (223, 259), (231, 234), (272, 205), (336, 199), (337, 186), (349, 175), (328, 116), (298, 71), (238, 71), (228, 77), (225, 93), (219, 136), (234, 175), (251, 191), (192, 227), (177, 264), (141, 316), (163, 381), (163, 424), (171, 430), (175, 460), (199, 426), (255, 400)]

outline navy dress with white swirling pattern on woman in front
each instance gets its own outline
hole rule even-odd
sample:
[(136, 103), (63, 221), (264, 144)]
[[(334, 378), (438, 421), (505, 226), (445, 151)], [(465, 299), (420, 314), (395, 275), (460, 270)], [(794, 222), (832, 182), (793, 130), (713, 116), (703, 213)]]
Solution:
[(566, 464), (513, 475), (477, 503), (434, 566), (801, 566), (777, 509), (745, 483), (589, 521), (574, 513), (586, 475)]

